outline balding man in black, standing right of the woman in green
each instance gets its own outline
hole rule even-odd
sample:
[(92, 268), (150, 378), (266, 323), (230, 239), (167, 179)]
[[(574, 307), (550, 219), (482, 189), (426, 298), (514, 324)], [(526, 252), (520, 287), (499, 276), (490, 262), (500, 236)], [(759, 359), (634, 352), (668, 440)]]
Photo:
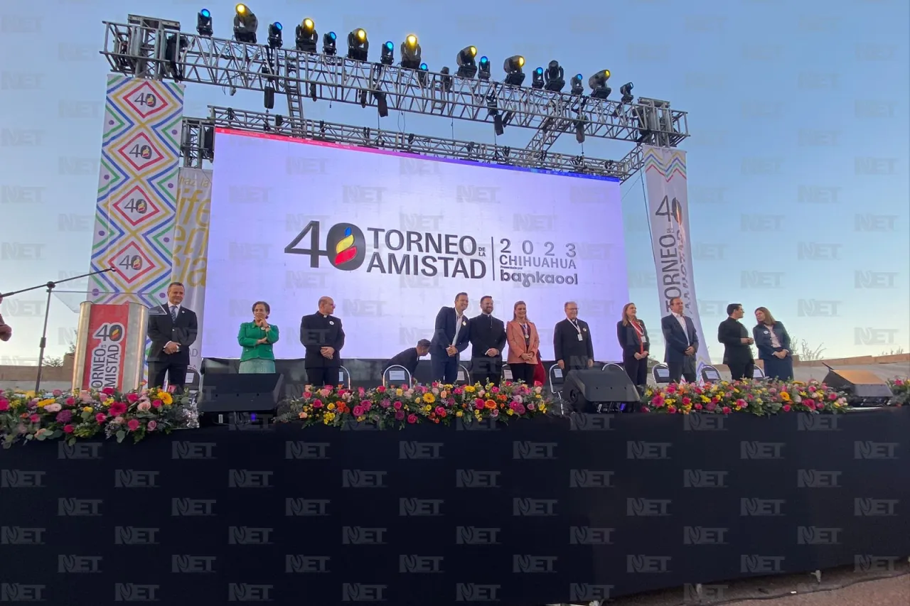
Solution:
[(341, 348), (344, 347), (344, 328), (341, 320), (332, 316), (335, 301), (319, 298), (319, 311), (300, 318), (300, 342), (306, 349), (303, 367), (307, 382), (316, 387), (339, 384)]

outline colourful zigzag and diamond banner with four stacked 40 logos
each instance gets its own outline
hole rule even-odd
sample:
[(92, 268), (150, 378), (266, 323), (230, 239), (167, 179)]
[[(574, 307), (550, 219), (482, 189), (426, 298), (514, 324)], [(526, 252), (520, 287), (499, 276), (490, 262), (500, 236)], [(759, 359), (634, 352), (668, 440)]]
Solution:
[(165, 300), (171, 277), (184, 86), (107, 76), (87, 300)]

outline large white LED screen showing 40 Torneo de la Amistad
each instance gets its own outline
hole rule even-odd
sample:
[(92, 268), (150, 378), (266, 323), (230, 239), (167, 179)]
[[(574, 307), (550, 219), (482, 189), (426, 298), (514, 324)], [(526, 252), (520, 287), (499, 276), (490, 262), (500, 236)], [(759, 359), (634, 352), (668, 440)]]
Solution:
[[(523, 300), (552, 357), (563, 305), (579, 304), (596, 359), (620, 359), (628, 300), (616, 180), (440, 160), (218, 129), (202, 355), (238, 358), (254, 301), (277, 358), (302, 358), (301, 316), (335, 300), (342, 359), (389, 359), (432, 338), (442, 306)], [(470, 348), (462, 358), (470, 357)]]

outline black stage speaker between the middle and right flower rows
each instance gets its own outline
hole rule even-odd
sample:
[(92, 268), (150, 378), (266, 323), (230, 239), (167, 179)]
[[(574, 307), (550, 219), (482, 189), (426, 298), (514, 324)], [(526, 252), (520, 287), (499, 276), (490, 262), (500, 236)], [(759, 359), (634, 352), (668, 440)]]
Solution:
[(625, 370), (572, 370), (562, 386), (562, 399), (576, 412), (618, 412), (642, 399)]

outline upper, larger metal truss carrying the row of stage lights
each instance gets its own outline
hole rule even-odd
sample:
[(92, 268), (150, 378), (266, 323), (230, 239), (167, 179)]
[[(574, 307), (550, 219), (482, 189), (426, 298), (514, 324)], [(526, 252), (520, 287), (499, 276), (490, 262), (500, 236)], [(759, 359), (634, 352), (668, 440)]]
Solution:
[[(303, 101), (329, 100), (389, 110), (445, 116), (492, 125), (535, 130), (518, 156), (551, 157), (548, 150), (562, 133), (629, 141), (637, 146), (677, 146), (687, 136), (685, 112), (665, 101), (639, 97), (621, 103), (591, 96), (568, 95), (491, 80), (420, 72), (399, 66), (354, 61), (343, 56), (271, 48), (232, 40), (179, 33), (179, 24), (130, 16), (127, 24), (105, 22), (101, 51), (112, 71), (128, 76), (174, 78), (187, 83), (263, 91), (288, 98), (288, 135), (304, 136), (312, 125), (303, 116)], [(333, 125), (338, 127), (339, 125)], [(344, 128), (352, 128), (345, 126)], [(385, 133), (393, 136), (392, 133)], [(400, 136), (400, 135), (399, 135)], [(451, 144), (420, 137), (437, 154)], [(471, 145), (495, 150), (497, 146)], [(504, 147), (500, 147), (504, 149)], [(430, 152), (425, 152), (430, 153)], [(447, 152), (446, 152), (447, 153)], [(511, 149), (510, 158), (516, 155)], [(513, 161), (508, 161), (510, 164)], [(539, 160), (540, 162), (540, 160)], [(585, 163), (589, 160), (585, 160)], [(590, 160), (603, 164), (604, 160)], [(623, 161), (614, 164), (622, 164)], [(586, 172), (586, 171), (577, 171)]]

